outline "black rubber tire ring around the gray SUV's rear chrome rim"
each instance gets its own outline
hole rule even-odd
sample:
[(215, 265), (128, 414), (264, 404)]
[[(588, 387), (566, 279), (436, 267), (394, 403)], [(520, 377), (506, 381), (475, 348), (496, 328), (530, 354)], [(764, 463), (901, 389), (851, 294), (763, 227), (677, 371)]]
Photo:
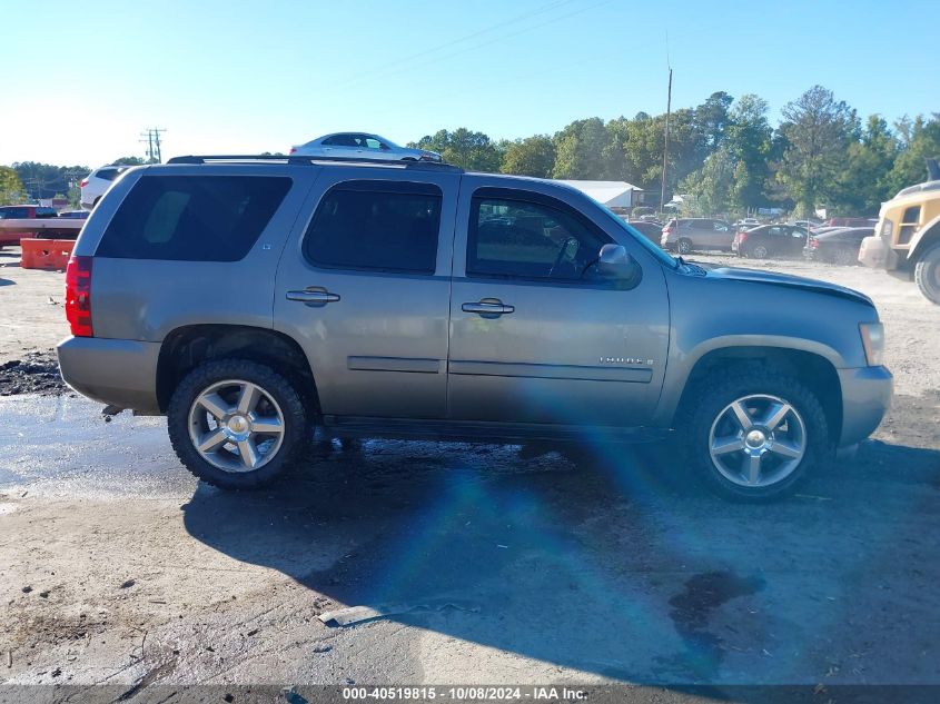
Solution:
[[(284, 415), (284, 439), (277, 455), (257, 469), (226, 472), (207, 462), (189, 437), (189, 412), (196, 398), (209, 386), (227, 379), (241, 379), (261, 387)], [(308, 409), (294, 386), (270, 367), (246, 359), (217, 359), (190, 371), (177, 386), (167, 408), (167, 429), (174, 452), (189, 472), (207, 484), (224, 489), (257, 489), (268, 486), (296, 460), (307, 445)]]

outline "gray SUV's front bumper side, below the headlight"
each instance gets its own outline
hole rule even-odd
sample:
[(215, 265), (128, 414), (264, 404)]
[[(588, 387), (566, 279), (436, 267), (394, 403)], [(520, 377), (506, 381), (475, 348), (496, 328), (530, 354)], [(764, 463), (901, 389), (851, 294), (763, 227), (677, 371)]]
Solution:
[(894, 377), (887, 367), (839, 369), (842, 387), (842, 433), (839, 446), (853, 445), (871, 435), (891, 406)]

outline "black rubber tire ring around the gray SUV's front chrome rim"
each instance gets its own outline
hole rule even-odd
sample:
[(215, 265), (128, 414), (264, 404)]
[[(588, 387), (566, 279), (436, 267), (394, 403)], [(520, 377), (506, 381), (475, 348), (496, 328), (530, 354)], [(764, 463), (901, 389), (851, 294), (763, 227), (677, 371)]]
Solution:
[[(735, 399), (766, 394), (776, 396), (802, 416), (807, 449), (796, 468), (779, 483), (764, 487), (734, 484), (712, 462), (709, 437), (712, 424)], [(719, 496), (741, 503), (768, 503), (791, 494), (815, 467), (832, 457), (832, 442), (822, 405), (802, 381), (771, 366), (748, 363), (722, 371), (712, 371), (690, 390), (677, 425), (676, 440), (682, 445), (684, 466), (691, 476)]]

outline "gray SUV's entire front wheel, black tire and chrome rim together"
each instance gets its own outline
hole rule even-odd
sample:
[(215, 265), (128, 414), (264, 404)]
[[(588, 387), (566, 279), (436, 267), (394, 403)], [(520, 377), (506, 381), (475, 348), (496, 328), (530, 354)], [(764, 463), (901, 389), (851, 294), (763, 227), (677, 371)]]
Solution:
[[(738, 419), (735, 404), (749, 412), (749, 429)], [(685, 436), (685, 464), (729, 500), (782, 498), (832, 454), (817, 396), (795, 377), (765, 365), (713, 371), (692, 389), (686, 406), (690, 410), (677, 428), (680, 437)], [(754, 456), (756, 475), (751, 474)]]

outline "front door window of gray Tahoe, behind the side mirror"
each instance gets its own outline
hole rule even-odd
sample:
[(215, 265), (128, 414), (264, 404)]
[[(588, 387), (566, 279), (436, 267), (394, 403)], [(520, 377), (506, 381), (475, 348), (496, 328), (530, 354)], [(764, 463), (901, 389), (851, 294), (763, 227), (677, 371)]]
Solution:
[(537, 202), (474, 198), (467, 274), (577, 280), (607, 241), (565, 210)]

